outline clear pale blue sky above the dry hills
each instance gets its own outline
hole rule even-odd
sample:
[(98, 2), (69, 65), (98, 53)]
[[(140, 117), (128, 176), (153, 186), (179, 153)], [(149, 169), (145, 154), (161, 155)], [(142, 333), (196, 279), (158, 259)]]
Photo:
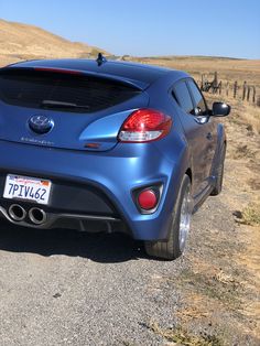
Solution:
[(0, 18), (117, 55), (260, 58), (260, 0), (0, 0)]

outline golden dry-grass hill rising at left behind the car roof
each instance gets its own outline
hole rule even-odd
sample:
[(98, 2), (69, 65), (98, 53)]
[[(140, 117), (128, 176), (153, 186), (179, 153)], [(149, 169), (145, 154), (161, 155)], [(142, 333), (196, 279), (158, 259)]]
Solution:
[(71, 42), (37, 26), (0, 19), (0, 64), (26, 58), (88, 57), (104, 50)]

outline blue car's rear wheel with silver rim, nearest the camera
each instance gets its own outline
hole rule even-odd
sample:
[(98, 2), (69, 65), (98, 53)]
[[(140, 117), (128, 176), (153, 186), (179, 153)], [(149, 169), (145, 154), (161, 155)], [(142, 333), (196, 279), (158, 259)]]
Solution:
[(169, 238), (167, 240), (144, 241), (144, 248), (149, 256), (173, 260), (183, 253), (189, 231), (191, 205), (191, 180), (185, 174), (172, 213)]

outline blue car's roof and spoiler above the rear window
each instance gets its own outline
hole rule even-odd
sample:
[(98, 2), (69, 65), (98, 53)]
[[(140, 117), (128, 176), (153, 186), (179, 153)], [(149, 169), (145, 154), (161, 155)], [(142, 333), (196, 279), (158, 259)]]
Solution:
[(98, 74), (104, 77), (130, 82), (142, 89), (162, 77), (169, 79), (171, 76), (173, 79), (180, 79), (188, 76), (183, 72), (171, 68), (109, 60), (100, 65), (95, 60), (85, 58), (35, 60), (15, 63), (7, 67), (45, 67), (80, 71), (86, 74)]

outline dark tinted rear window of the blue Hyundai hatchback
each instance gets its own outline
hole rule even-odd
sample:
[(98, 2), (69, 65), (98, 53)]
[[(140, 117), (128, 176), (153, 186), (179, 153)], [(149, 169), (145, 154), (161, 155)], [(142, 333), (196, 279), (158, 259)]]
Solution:
[(123, 102), (139, 94), (138, 88), (123, 83), (25, 68), (0, 72), (0, 99), (7, 104), (93, 112)]

